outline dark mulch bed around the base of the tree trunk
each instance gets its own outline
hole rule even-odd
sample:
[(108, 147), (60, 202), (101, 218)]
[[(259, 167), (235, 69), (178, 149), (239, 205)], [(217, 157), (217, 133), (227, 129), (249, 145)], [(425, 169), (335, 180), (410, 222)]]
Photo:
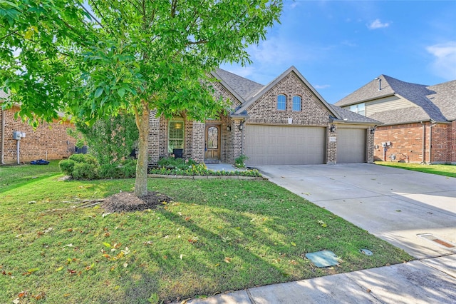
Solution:
[(133, 212), (154, 209), (162, 205), (163, 202), (169, 203), (172, 198), (158, 192), (147, 192), (146, 196), (135, 196), (133, 193), (120, 192), (105, 199), (101, 207), (109, 212)]

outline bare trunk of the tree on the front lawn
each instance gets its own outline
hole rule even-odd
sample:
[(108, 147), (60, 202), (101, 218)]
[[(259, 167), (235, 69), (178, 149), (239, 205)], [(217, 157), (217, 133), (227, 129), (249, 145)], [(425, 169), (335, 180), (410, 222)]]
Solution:
[(135, 196), (147, 194), (147, 138), (149, 136), (149, 108), (143, 104), (142, 113), (135, 108), (136, 126), (140, 133), (138, 163), (136, 164)]

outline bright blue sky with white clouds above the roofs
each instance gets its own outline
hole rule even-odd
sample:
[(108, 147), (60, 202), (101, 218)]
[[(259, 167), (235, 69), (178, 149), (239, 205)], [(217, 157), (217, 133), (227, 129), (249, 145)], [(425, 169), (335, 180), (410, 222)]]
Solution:
[(280, 24), (222, 69), (266, 85), (295, 66), (328, 103), (381, 74), (434, 85), (456, 79), (456, 1), (284, 0)]

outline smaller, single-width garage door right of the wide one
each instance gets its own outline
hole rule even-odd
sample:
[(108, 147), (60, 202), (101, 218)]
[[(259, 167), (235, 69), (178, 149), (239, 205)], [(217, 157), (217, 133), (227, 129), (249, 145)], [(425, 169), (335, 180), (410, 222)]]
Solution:
[(337, 129), (337, 163), (366, 162), (366, 129)]

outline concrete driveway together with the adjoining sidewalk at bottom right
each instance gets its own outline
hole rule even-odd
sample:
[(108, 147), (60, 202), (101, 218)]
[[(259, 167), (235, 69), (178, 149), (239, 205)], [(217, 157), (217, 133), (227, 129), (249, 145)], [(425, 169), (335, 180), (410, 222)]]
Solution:
[(367, 163), (259, 166), (273, 183), (418, 260), (239, 290), (188, 303), (456, 303), (456, 178)]

